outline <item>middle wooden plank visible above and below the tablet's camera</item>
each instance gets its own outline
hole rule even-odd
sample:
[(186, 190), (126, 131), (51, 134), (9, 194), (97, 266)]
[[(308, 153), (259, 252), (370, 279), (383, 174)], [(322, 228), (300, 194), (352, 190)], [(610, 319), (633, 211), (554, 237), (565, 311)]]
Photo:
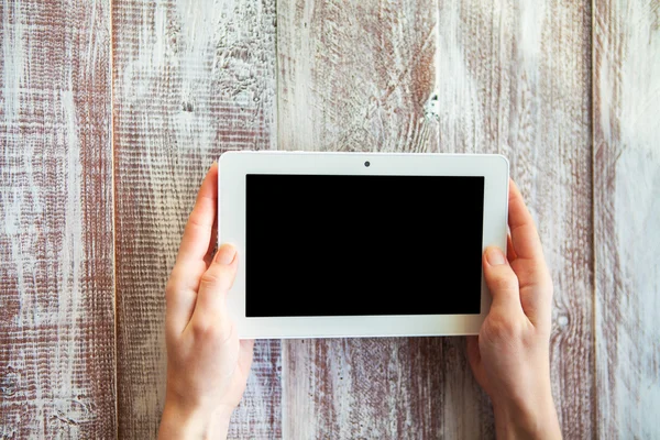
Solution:
[[(279, 148), (437, 150), (436, 2), (277, 3)], [(283, 342), (284, 438), (435, 438), (437, 338)]]

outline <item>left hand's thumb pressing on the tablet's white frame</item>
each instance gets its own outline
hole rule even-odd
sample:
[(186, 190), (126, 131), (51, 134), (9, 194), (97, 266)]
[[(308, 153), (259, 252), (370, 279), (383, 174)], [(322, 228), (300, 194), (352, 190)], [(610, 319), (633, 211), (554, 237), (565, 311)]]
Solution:
[(190, 320), (200, 329), (215, 327), (222, 339), (229, 338), (231, 331), (226, 299), (237, 276), (238, 265), (237, 249), (231, 244), (220, 246), (211, 265), (201, 276)]

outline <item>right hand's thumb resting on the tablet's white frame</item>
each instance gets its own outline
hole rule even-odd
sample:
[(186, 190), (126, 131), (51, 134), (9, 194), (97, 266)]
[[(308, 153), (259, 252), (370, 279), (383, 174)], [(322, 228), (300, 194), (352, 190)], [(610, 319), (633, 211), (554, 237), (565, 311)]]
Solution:
[(484, 278), (493, 297), (493, 306), (491, 308), (503, 309), (505, 311), (522, 311), (518, 277), (508, 264), (504, 252), (496, 246), (486, 248), (483, 265)]

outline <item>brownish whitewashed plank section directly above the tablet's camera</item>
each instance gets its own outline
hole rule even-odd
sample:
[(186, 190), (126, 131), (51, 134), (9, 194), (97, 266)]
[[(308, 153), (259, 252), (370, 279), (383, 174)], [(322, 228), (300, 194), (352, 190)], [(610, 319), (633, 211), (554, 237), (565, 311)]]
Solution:
[(435, 151), (436, 2), (277, 2), (278, 146)]

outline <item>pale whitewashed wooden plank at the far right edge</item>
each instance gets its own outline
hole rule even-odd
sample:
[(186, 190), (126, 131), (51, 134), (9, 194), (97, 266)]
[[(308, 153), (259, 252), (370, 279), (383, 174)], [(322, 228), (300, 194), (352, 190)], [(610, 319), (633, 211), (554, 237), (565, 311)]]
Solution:
[(660, 438), (658, 2), (594, 3), (597, 437)]

